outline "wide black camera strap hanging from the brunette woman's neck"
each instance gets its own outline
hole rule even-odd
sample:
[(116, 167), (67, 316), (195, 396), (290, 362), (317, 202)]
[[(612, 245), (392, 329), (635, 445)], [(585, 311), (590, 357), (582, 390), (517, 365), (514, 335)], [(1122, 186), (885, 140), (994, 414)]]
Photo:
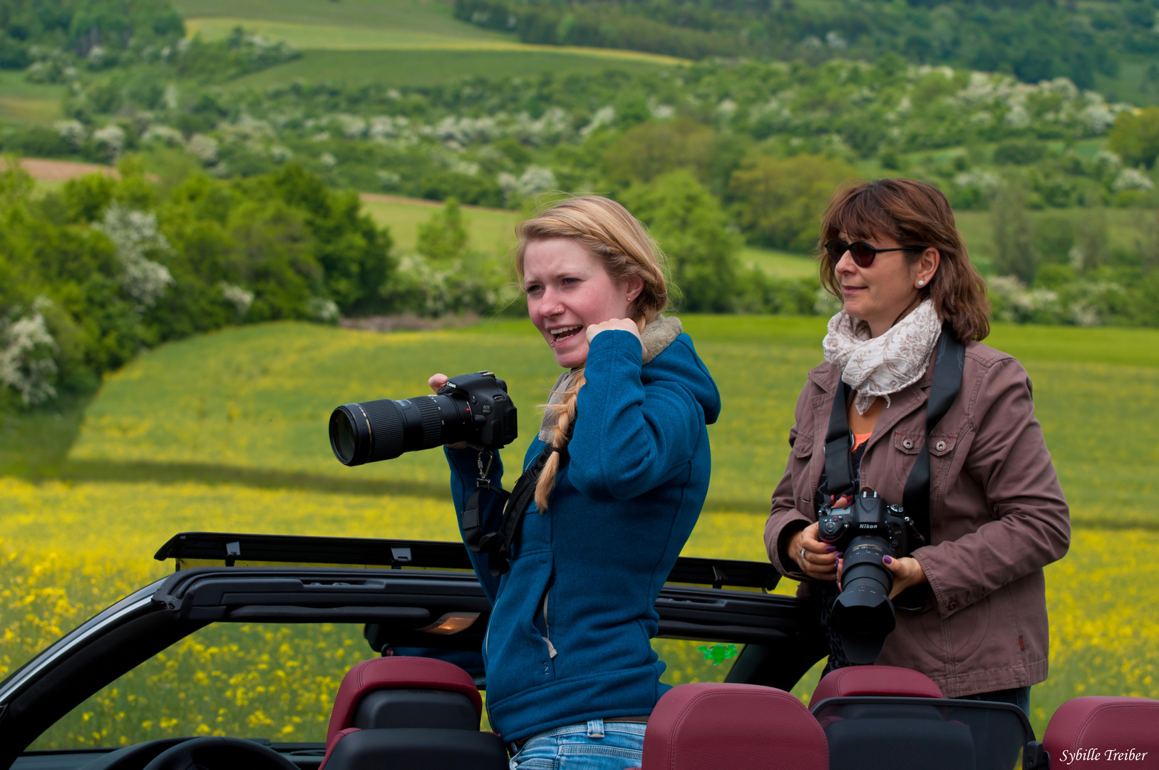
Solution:
[[(930, 386), (930, 401), (926, 408), (926, 440), (918, 451), (918, 460), (905, 481), (902, 507), (905, 515), (913, 521), (914, 529), (930, 543), (930, 434), (949, 412), (950, 405), (957, 398), (962, 387), (962, 369), (965, 364), (965, 348), (954, 335), (949, 321), (942, 322), (941, 336), (938, 340), (938, 355), (934, 358), (933, 383)], [(833, 409), (829, 417), (829, 430), (825, 433), (825, 486), (837, 499), (853, 494), (853, 451), (850, 442), (848, 408), (850, 386), (841, 383), (833, 398)]]

